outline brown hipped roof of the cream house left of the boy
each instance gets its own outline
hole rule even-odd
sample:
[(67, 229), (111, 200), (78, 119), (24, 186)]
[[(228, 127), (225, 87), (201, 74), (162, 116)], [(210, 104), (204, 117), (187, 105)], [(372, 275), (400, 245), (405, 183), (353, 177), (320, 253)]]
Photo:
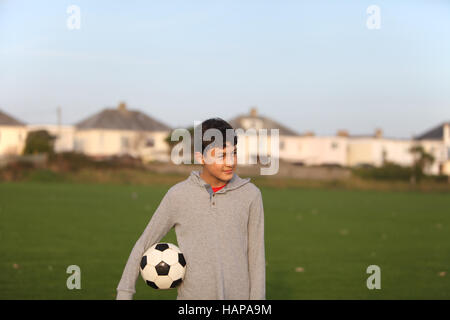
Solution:
[(170, 131), (171, 128), (145, 113), (128, 110), (125, 104), (107, 108), (76, 124), (78, 129), (113, 129), (135, 131)]

